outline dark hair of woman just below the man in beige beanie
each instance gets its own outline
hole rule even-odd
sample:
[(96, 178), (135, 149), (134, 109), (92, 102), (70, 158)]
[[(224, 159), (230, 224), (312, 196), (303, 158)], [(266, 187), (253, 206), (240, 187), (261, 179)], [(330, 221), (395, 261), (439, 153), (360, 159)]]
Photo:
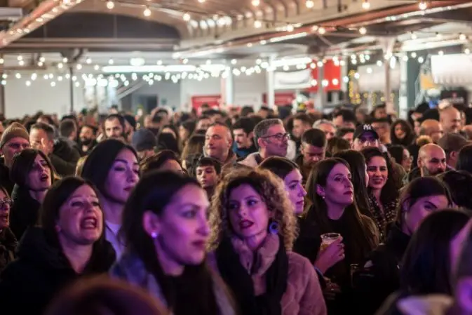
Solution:
[(10, 168), (10, 180), (20, 187), (28, 186), (28, 175), (34, 163), (36, 156), (41, 156), (50, 168), (50, 180), (54, 182), (55, 169), (53, 163), (41, 150), (24, 149), (13, 156), (13, 163)]

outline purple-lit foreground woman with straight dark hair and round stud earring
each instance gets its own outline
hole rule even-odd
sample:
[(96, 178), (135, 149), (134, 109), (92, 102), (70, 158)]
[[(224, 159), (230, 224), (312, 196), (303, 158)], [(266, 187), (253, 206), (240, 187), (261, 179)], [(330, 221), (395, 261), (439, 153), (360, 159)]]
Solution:
[(235, 314), (224, 283), (205, 264), (208, 207), (195, 179), (145, 174), (123, 210), (126, 253), (112, 276), (147, 289), (174, 315)]

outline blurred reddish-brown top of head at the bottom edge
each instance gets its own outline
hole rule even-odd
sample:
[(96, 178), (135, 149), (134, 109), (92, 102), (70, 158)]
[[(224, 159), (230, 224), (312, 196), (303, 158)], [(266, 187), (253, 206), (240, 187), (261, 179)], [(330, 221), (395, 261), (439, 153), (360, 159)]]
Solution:
[(55, 297), (46, 315), (168, 315), (146, 290), (97, 276), (82, 279)]

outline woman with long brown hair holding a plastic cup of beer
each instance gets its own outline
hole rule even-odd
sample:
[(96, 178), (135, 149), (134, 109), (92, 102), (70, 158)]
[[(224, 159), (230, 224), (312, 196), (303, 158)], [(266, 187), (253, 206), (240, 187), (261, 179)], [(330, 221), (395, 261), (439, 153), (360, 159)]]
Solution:
[(328, 314), (351, 314), (351, 264), (362, 262), (377, 247), (377, 227), (356, 207), (351, 170), (343, 159), (316, 163), (306, 191), (311, 206), (302, 220), (294, 250), (308, 257), (315, 267), (325, 269), (321, 272), (330, 280), (326, 289), (331, 295), (336, 293), (325, 294)]

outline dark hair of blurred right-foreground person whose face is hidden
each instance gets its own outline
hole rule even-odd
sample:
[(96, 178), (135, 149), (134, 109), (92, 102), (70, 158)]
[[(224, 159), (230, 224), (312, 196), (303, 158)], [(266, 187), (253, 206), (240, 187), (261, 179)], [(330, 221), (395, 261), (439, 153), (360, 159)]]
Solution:
[(428, 215), (403, 256), (400, 288), (412, 295), (451, 295), (450, 243), (470, 219), (470, 214), (457, 209)]

